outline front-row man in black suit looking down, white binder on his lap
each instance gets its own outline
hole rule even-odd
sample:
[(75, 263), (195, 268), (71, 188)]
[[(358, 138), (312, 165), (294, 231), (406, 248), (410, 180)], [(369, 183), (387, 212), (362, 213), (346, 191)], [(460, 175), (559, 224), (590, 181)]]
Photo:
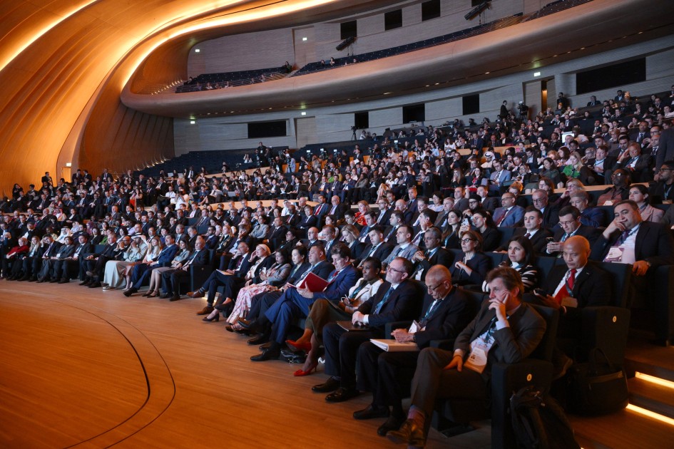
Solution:
[[(419, 327), (395, 329), (392, 336), (397, 341), (414, 341), (418, 349), (427, 348), (432, 340), (454, 339), (475, 316), (469, 299), (459, 289), (452, 287), (451, 274), (443, 265), (432, 267), (427, 276), (427, 294), (419, 316)], [(405, 420), (402, 398), (417, 366), (418, 351), (386, 352), (370, 341), (358, 349), (358, 381), (361, 391), (372, 391), (372, 404), (354, 412), (355, 419), (389, 416), (377, 429), (381, 436), (389, 430), (398, 430)]]

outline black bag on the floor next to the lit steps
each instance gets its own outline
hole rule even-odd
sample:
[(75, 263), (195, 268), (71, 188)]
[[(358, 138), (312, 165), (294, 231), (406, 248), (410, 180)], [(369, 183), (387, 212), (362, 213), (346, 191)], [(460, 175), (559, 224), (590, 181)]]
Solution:
[(587, 363), (568, 370), (566, 408), (578, 415), (601, 415), (626, 408), (629, 402), (627, 376), (613, 366), (599, 348), (590, 351)]

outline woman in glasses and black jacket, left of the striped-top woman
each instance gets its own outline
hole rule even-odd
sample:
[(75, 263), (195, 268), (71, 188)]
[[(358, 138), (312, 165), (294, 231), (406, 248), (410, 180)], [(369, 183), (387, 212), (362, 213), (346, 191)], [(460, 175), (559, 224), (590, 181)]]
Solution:
[(482, 236), (475, 231), (461, 232), (461, 252), (449, 267), (454, 285), (477, 285), (481, 288), (491, 268), (491, 259), (482, 254)]

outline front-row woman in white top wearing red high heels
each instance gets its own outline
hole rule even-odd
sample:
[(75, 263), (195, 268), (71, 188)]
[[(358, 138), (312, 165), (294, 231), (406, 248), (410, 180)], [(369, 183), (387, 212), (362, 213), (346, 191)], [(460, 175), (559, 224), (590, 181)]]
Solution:
[(327, 299), (319, 299), (312, 304), (305, 321), (305, 331), (297, 341), (287, 340), (291, 349), (307, 351), (307, 359), (302, 368), (293, 373), (294, 376), (308, 376), (318, 366), (318, 351), (321, 346), (323, 326), (332, 321), (350, 320), (354, 311), (364, 301), (377, 294), (384, 281), (379, 276), (382, 262), (374, 257), (367, 257), (362, 264), (363, 277), (349, 289), (349, 295), (342, 301), (332, 304)]

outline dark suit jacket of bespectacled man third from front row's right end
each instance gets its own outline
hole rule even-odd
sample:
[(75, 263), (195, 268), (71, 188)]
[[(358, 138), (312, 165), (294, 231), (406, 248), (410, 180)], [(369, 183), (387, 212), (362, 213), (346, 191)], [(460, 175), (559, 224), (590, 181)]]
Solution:
[(377, 309), (377, 304), (384, 299), (387, 291), (391, 288), (390, 282), (384, 282), (382, 287), (379, 287), (377, 294), (371, 296), (358, 307), (360, 313), (368, 315), (369, 326), (381, 327), (392, 321), (409, 320), (417, 316), (420, 302), (417, 299), (417, 289), (412, 282), (406, 279), (398, 284), (398, 287), (389, 295), (382, 308), (379, 309), (378, 314), (372, 312), (374, 309)]

